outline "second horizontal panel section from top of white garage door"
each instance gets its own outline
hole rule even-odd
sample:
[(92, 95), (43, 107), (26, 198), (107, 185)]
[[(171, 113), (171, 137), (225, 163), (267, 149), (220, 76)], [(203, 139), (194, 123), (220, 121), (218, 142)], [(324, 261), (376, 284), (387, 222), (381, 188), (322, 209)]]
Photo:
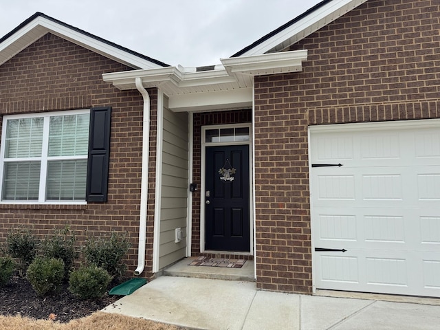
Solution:
[(440, 205), (440, 166), (313, 168), (312, 173), (316, 189), (311, 199), (322, 206)]

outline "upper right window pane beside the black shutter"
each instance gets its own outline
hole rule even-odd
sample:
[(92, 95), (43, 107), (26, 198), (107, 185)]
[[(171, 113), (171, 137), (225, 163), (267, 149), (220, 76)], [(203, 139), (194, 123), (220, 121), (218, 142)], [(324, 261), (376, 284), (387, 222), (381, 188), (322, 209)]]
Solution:
[(89, 114), (50, 118), (49, 156), (87, 155)]

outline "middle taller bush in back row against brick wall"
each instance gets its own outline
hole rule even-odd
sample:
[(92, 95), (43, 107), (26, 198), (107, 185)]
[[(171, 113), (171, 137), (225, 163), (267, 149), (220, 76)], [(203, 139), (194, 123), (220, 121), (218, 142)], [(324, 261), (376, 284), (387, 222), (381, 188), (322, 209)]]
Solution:
[(43, 256), (61, 259), (64, 262), (65, 278), (68, 278), (70, 270), (78, 258), (78, 251), (75, 248), (75, 234), (69, 227), (63, 230), (55, 230), (52, 236), (45, 236), (41, 243)]

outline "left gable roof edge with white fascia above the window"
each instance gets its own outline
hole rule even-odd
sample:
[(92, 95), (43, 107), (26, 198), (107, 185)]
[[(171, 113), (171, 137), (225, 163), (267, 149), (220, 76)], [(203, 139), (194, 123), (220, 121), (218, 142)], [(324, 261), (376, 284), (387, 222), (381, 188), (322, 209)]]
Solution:
[(36, 12), (0, 39), (0, 65), (47, 33), (55, 34), (76, 45), (133, 67), (133, 69), (155, 69), (169, 66), (154, 58), (133, 52), (133, 50), (58, 21), (41, 12)]

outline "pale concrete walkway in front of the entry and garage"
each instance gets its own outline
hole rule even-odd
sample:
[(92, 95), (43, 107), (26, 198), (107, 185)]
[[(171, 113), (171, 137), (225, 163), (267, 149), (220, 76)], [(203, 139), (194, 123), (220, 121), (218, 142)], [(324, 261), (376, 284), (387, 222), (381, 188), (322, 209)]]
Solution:
[(280, 294), (255, 283), (161, 276), (103, 311), (190, 329), (440, 329), (440, 306)]

